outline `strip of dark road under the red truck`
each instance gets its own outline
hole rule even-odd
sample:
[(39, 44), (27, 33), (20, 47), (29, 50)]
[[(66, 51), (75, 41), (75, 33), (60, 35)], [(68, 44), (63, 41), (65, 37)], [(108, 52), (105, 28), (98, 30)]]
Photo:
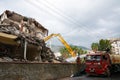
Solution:
[(71, 77), (71, 78), (68, 77), (68, 78), (63, 78), (59, 80), (120, 80), (120, 72), (114, 73), (110, 77), (82, 75), (79, 77)]

